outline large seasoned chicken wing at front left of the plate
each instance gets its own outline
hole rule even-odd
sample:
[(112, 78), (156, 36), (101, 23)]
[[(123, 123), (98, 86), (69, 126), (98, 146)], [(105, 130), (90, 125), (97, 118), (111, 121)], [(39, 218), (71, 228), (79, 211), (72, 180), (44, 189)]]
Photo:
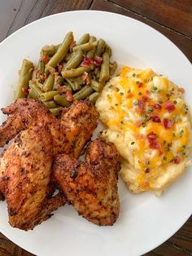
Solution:
[(28, 230), (64, 205), (50, 195), (53, 142), (50, 131), (33, 126), (20, 132), (0, 159), (0, 191), (7, 201), (12, 227)]

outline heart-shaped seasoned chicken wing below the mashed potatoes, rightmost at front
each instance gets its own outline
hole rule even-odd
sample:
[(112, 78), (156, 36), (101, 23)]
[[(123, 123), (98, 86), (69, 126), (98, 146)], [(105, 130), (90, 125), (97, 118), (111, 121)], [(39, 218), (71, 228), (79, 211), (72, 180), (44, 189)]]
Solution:
[(64, 154), (55, 157), (52, 175), (79, 214), (104, 226), (115, 223), (119, 215), (119, 170), (114, 144), (95, 139), (89, 144), (84, 163)]

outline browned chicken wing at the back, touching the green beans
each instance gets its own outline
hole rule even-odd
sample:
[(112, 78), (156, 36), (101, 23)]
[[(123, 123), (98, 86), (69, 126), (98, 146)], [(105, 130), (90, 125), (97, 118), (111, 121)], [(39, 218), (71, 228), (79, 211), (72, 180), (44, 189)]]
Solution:
[(9, 115), (0, 126), (0, 147), (3, 147), (20, 130), (31, 126), (48, 127), (53, 137), (54, 152), (70, 154), (78, 158), (85, 143), (91, 138), (97, 126), (98, 113), (88, 101), (76, 101), (63, 111), (59, 120), (35, 99), (17, 99), (14, 104), (2, 108)]

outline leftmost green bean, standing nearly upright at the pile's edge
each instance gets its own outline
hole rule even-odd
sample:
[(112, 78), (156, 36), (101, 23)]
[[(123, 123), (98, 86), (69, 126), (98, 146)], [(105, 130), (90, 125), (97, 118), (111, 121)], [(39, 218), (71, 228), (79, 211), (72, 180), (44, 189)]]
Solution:
[(20, 80), (15, 91), (15, 99), (27, 97), (23, 90), (28, 89), (28, 82), (32, 78), (32, 73), (33, 63), (24, 59), (20, 69)]

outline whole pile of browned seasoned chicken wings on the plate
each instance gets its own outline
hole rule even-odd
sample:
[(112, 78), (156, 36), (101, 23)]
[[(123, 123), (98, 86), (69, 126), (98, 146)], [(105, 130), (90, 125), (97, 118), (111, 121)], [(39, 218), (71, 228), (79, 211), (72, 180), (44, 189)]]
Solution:
[(2, 112), (9, 117), (0, 126), (0, 147), (16, 136), (0, 158), (0, 198), (7, 201), (12, 227), (33, 229), (71, 202), (90, 222), (116, 222), (120, 202), (115, 146), (96, 139), (89, 144), (85, 163), (76, 160), (97, 126), (94, 104), (75, 101), (56, 118), (41, 101), (24, 98)]

